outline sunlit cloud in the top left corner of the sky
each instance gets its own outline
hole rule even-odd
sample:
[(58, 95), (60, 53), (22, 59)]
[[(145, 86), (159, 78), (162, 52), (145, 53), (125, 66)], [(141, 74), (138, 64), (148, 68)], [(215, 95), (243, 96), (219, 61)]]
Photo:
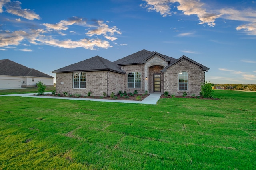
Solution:
[(6, 12), (26, 18), (28, 20), (40, 19), (40, 16), (30, 9), (22, 9), (20, 1), (1, 0), (0, 12), (3, 12), (2, 7), (6, 8)]

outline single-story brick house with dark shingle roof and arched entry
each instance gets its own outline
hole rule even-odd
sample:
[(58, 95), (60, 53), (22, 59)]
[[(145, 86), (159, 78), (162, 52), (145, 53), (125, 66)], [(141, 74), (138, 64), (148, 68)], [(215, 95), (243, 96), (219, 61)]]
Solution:
[(209, 68), (182, 56), (174, 59), (157, 52), (138, 51), (111, 62), (99, 56), (52, 71), (56, 73), (56, 92), (109, 96), (119, 90), (149, 93), (199, 95)]

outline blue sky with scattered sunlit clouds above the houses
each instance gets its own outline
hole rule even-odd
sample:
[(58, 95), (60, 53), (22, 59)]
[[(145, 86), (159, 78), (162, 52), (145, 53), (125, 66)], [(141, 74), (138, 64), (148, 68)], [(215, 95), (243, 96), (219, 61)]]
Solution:
[(185, 55), (212, 83), (256, 84), (256, 0), (0, 0), (0, 59), (55, 77), (142, 49)]

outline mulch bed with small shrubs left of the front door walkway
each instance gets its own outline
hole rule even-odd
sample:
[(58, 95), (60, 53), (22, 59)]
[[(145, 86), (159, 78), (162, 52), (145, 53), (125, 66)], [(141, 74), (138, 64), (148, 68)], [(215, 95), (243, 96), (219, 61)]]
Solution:
[[(36, 94), (34, 94), (36, 95)], [(137, 96), (141, 96), (141, 100), (143, 100), (144, 98), (148, 97), (149, 94), (136, 94), (134, 96), (129, 96), (129, 98), (124, 98), (124, 96), (120, 97), (119, 94), (115, 95), (114, 98), (111, 98), (110, 96), (107, 96), (107, 97), (103, 97), (103, 96), (80, 96), (80, 97), (76, 97), (76, 96), (65, 96), (64, 94), (56, 94), (56, 95), (53, 95), (53, 94), (43, 94), (43, 95), (40, 95), (40, 96), (53, 96), (53, 97), (63, 97), (63, 98), (87, 98), (87, 99), (108, 99), (108, 100), (137, 100)]]

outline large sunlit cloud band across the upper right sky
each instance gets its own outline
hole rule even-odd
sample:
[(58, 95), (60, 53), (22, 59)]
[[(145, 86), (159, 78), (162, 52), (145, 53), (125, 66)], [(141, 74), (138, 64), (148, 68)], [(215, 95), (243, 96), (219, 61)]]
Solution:
[[(236, 30), (244, 30), (248, 35), (256, 35), (256, 12), (250, 8), (243, 10), (236, 10), (234, 8), (218, 8), (207, 6), (206, 3), (200, 0), (144, 0), (146, 5), (140, 5), (148, 10), (159, 12), (163, 17), (175, 14), (171, 12), (171, 6), (176, 7), (177, 10), (182, 11), (184, 15), (196, 15), (200, 20), (199, 24), (207, 24), (215, 26), (215, 21), (218, 18), (226, 20), (237, 20), (247, 22), (244, 25), (236, 27)], [(206, 1), (207, 2), (207, 1)], [(255, 3), (255, 1), (252, 1)]]

